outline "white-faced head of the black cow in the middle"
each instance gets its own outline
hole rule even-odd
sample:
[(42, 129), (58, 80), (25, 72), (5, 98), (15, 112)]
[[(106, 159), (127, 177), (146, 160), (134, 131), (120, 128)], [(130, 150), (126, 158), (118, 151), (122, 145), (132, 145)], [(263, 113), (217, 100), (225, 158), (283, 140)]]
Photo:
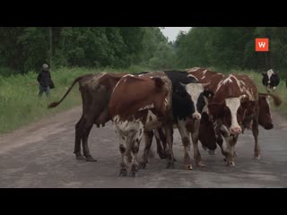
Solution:
[(208, 90), (208, 86), (210, 83), (188, 83), (183, 84), (180, 83), (181, 86), (187, 91), (188, 95), (190, 96), (193, 104), (193, 114), (192, 118), (194, 120), (200, 120), (201, 114), (203, 112), (208, 113), (207, 108), (207, 100), (212, 98), (214, 93)]

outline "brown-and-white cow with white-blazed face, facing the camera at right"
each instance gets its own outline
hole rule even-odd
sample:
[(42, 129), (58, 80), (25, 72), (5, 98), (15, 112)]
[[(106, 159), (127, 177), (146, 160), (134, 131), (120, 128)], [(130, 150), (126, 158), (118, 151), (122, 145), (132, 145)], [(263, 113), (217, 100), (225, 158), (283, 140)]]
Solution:
[(228, 159), (228, 164), (234, 166), (234, 147), (239, 133), (245, 128), (251, 128), (255, 137), (255, 158), (260, 158), (258, 136), (258, 91), (257, 86), (247, 75), (222, 74), (208, 71), (204, 68), (187, 70), (200, 82), (210, 82), (209, 90), (214, 97), (209, 101), (209, 116), (213, 120), (215, 133), (221, 131), (229, 149), (222, 154)]

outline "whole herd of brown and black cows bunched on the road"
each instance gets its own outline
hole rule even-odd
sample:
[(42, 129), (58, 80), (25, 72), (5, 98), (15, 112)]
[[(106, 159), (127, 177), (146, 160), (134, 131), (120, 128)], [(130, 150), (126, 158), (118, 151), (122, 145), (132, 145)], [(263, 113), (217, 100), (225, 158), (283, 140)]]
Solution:
[[(186, 169), (193, 168), (189, 156), (190, 136), (197, 166), (205, 165), (198, 141), (210, 154), (214, 154), (218, 145), (227, 165), (234, 166), (235, 144), (246, 129), (252, 130), (254, 158), (260, 159), (258, 125), (272, 129), (269, 99), (274, 99), (276, 106), (281, 104), (281, 99), (270, 93), (280, 82), (278, 74), (272, 70), (263, 73), (262, 82), (268, 93), (260, 93), (247, 75), (215, 73), (196, 67), (186, 71), (83, 75), (74, 80), (62, 99), (49, 107), (57, 107), (77, 82), (83, 99), (83, 114), (75, 125), (76, 159), (96, 161), (88, 146), (91, 127), (104, 126), (112, 120), (121, 153), (119, 176), (127, 176), (129, 163), (130, 176), (135, 176), (138, 168), (145, 168), (153, 135), (159, 156), (167, 159), (167, 168), (173, 168), (176, 160), (172, 150), (174, 128), (178, 128), (184, 146)], [(138, 164), (142, 139), (145, 142), (143, 158)]]

